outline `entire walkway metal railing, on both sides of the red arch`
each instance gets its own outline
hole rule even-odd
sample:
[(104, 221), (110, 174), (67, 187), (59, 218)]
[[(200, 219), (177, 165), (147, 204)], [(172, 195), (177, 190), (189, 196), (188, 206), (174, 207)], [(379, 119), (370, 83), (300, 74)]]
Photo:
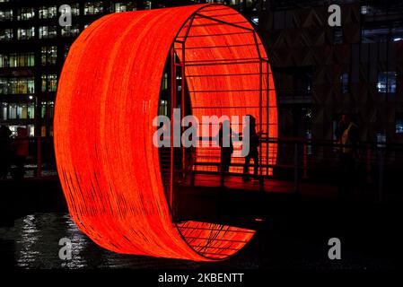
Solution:
[[(40, 178), (57, 176), (55, 152), (52, 137), (30, 137), (29, 155), (24, 163), (25, 177)], [(200, 141), (213, 141), (214, 138), (200, 138)], [(253, 176), (253, 162), (249, 173), (266, 191), (265, 183), (273, 180), (287, 182), (292, 192), (300, 193), (302, 185), (309, 183), (322, 187), (339, 188), (341, 173), (340, 150), (343, 145), (332, 141), (306, 140), (298, 138), (261, 138), (259, 147), (258, 175)], [(268, 148), (267, 148), (268, 147)], [(234, 143), (234, 152), (229, 172), (220, 172), (220, 147), (196, 147), (186, 149), (182, 161), (182, 148), (176, 148), (174, 157), (174, 184), (195, 185), (195, 176), (211, 175), (219, 178), (219, 185), (225, 186), (227, 178), (242, 177), (244, 158), (241, 157), (241, 144)], [(168, 152), (168, 153), (167, 153)], [(160, 149), (162, 178), (171, 177), (171, 149)], [(13, 157), (13, 155), (11, 155)], [(276, 159), (276, 160), (275, 160)], [(401, 175), (403, 174), (403, 144), (362, 142), (355, 146), (354, 174), (349, 183), (356, 194), (370, 196), (376, 200), (403, 198)], [(185, 164), (185, 166), (183, 166)], [(165, 170), (163, 170), (165, 167)], [(12, 178), (13, 160), (8, 178)], [(221, 177), (221, 178), (220, 178)], [(189, 179), (190, 178), (190, 179)], [(166, 187), (170, 180), (166, 178)], [(188, 180), (188, 181), (187, 181)]]

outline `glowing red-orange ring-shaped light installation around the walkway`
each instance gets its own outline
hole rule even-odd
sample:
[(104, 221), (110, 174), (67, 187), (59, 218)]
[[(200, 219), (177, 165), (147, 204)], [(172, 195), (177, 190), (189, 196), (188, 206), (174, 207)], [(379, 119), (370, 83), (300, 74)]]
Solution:
[[(258, 43), (260, 56), (267, 59), (258, 37), (250, 38), (253, 33), (239, 34), (240, 27), (216, 25), (203, 15), (253, 30), (240, 13), (216, 4), (114, 13), (83, 30), (69, 51), (57, 89), (57, 170), (74, 222), (103, 248), (210, 261), (231, 256), (254, 234), (253, 230), (206, 222), (173, 224), (162, 186), (152, 123), (158, 112), (165, 61), (171, 45), (176, 45), (174, 39), (185, 36), (193, 19), (186, 47), (194, 53), (187, 50), (188, 64), (255, 58), (258, 50), (254, 43)], [(226, 35), (206, 37), (212, 34)], [(225, 45), (233, 47), (206, 48)], [(263, 72), (267, 72), (265, 66)], [(231, 106), (225, 110), (228, 115), (252, 114), (263, 122), (266, 114), (259, 117), (258, 108), (247, 108), (258, 106), (258, 91), (252, 91), (259, 83), (259, 76), (254, 75), (258, 67), (256, 63), (210, 68), (188, 65), (193, 113), (220, 116), (220, 106)], [(206, 77), (192, 77), (195, 74)], [(266, 80), (264, 77), (263, 90), (266, 82), (274, 87), (271, 74)], [(231, 91), (225, 97), (218, 97), (218, 93), (211, 97), (214, 89)], [(269, 99), (268, 133), (276, 136), (274, 90)], [(270, 161), (274, 162), (276, 147), (271, 150)], [(212, 236), (214, 240), (206, 245)]]

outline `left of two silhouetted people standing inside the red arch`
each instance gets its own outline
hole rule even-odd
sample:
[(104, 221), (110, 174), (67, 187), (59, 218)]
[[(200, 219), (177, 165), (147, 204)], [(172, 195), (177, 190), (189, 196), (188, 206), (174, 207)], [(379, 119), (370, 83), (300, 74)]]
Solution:
[(220, 127), (218, 132), (218, 144), (221, 147), (221, 163), (220, 172), (228, 172), (231, 165), (231, 156), (233, 152), (232, 144), (232, 128), (229, 120), (224, 120), (223, 125)]

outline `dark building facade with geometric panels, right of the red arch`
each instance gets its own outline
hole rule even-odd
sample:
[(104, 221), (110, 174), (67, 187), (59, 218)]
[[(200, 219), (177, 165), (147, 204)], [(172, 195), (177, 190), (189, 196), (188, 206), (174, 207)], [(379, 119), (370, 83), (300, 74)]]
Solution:
[[(403, 17), (398, 9), (385, 18), (384, 14), (363, 14), (360, 4), (340, 6), (340, 28), (329, 26), (328, 5), (323, 4), (288, 10), (267, 7), (260, 16), (259, 34), (267, 45), (278, 89), (279, 134), (293, 136), (292, 108), (297, 106), (311, 110), (307, 130), (312, 139), (331, 140), (334, 121), (348, 113), (360, 128), (361, 141), (374, 142), (382, 134), (389, 143), (402, 143), (396, 121), (403, 113), (403, 40), (367, 43), (362, 34), (384, 26), (399, 35)], [(310, 91), (299, 91), (293, 76), (286, 75), (297, 70), (309, 73)], [(396, 92), (379, 93), (378, 74), (387, 71), (397, 74)], [(345, 93), (342, 74), (348, 74)]]

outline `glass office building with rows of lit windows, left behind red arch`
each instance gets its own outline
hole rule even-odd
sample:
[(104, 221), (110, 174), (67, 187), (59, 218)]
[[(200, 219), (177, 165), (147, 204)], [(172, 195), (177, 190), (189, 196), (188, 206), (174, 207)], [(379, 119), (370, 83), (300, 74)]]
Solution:
[[(53, 135), (57, 78), (68, 50), (80, 32), (101, 16), (213, 2), (241, 7), (243, 1), (0, 0), (0, 125), (13, 131), (28, 126), (30, 135)], [(66, 4), (71, 26), (59, 25)]]

